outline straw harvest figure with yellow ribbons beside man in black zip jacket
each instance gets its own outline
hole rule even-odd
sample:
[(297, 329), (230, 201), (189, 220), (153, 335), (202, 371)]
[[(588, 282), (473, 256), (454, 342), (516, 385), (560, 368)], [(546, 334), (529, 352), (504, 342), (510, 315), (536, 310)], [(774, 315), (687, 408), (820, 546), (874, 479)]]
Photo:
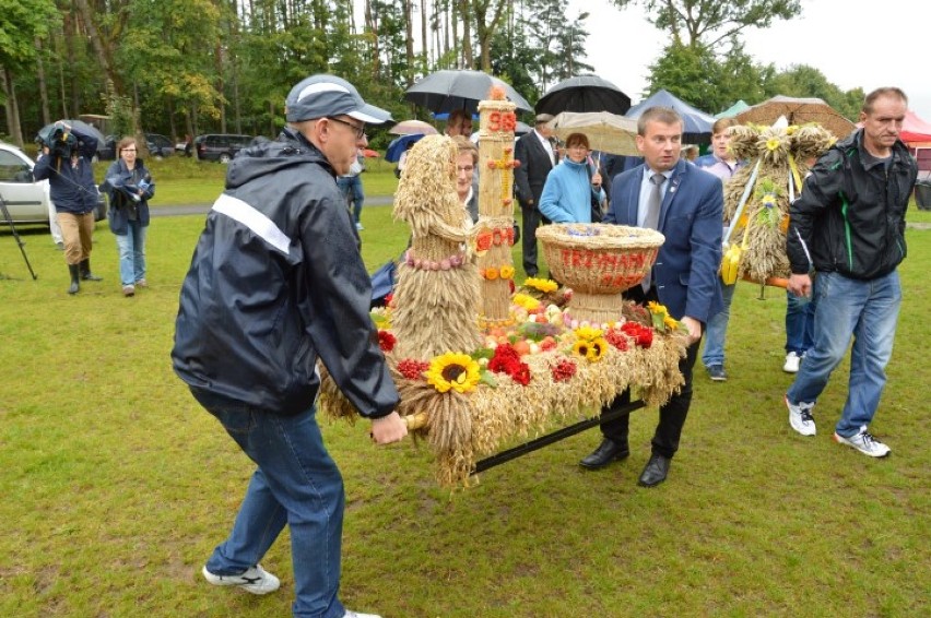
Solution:
[[(724, 218), (733, 222), (741, 200), (746, 204), (733, 223), (731, 247), (742, 248), (739, 275), (764, 283), (789, 276), (786, 230), (789, 203), (798, 198), (801, 181), (814, 161), (836, 141), (818, 124), (802, 127), (731, 127), (729, 147), (742, 167), (724, 186)], [(754, 177), (753, 186), (747, 185)]]

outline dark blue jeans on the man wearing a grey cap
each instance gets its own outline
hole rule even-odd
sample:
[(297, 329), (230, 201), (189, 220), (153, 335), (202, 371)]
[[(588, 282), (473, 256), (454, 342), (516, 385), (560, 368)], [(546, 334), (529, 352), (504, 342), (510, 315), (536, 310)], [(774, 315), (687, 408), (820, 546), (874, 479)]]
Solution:
[(337, 595), (345, 496), (315, 408), (281, 416), (203, 390), (191, 392), (258, 466), (233, 531), (214, 549), (208, 570), (235, 575), (257, 564), (287, 524), (294, 616), (341, 618), (345, 608)]

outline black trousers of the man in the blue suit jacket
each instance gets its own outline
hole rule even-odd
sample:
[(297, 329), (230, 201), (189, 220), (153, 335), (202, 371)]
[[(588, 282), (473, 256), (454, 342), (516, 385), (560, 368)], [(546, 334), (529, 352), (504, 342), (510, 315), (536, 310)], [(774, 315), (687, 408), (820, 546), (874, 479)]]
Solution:
[[(624, 293), (624, 298), (636, 302), (646, 302), (648, 300), (659, 301), (656, 287), (650, 288), (649, 293), (645, 294), (640, 286), (635, 286)], [(683, 384), (679, 393), (672, 395), (664, 405), (660, 406), (659, 423), (657, 424), (651, 442), (653, 454), (672, 459), (675, 455), (675, 451), (679, 450), (679, 439), (682, 436), (682, 428), (685, 426), (685, 417), (688, 416), (688, 407), (692, 405), (692, 372), (695, 367), (695, 360), (698, 358), (698, 346), (702, 340), (699, 338), (690, 345), (686, 349), (685, 358), (679, 360), (679, 370), (685, 378), (685, 384)], [(628, 403), (631, 403), (629, 389), (617, 395), (613, 402), (602, 408), (601, 414), (605, 414)], [(601, 432), (605, 438), (618, 444), (626, 444), (629, 421), (629, 415), (610, 420), (601, 426)]]

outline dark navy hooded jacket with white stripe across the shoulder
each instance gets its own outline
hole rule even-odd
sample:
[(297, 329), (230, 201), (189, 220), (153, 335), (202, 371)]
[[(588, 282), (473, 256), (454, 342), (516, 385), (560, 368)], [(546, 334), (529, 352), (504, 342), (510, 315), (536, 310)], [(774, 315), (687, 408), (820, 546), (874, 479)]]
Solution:
[(189, 385), (266, 412), (310, 407), (319, 357), (363, 416), (398, 403), (370, 280), (322, 153), (292, 129), (241, 151), (181, 287), (172, 350)]

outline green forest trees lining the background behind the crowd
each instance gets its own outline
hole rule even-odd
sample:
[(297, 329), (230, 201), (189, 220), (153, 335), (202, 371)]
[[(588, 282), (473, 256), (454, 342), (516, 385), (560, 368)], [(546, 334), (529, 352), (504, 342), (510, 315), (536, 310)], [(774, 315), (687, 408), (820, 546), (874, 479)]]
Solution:
[[(597, 19), (621, 23), (638, 4), (668, 41), (645, 92), (627, 93), (635, 102), (665, 88), (714, 114), (739, 99), (816, 96), (856, 119), (861, 88), (744, 52), (746, 28), (796, 19), (802, 3), (612, 0)], [(0, 0), (0, 139), (22, 146), (81, 114), (110, 116), (117, 134), (274, 136), (287, 90), (317, 72), (347, 78), (398, 119), (429, 119), (403, 93), (440, 69), (493, 73), (533, 104), (592, 71), (593, 17), (566, 12), (559, 0)], [(376, 132), (373, 146), (388, 139)]]

